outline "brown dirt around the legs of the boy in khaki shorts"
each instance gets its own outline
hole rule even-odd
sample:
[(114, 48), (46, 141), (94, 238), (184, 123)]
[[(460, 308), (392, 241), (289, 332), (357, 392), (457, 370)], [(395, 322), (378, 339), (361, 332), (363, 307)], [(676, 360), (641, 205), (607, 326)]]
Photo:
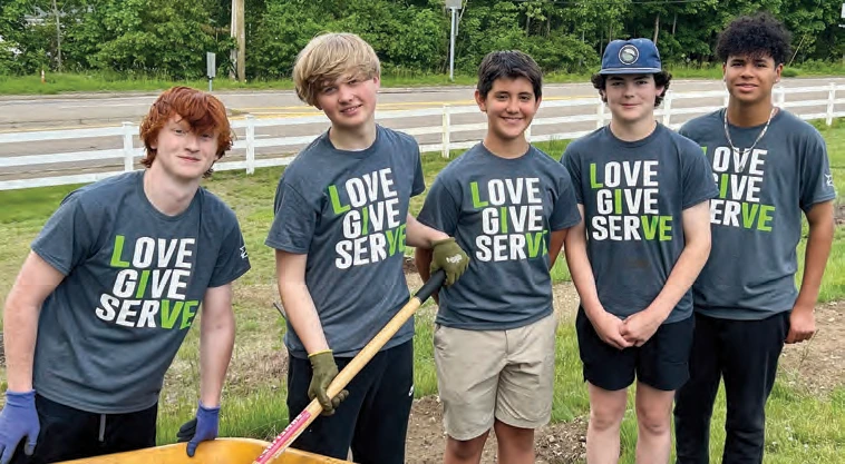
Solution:
[[(537, 463), (575, 463), (585, 458), (586, 422), (551, 424), (536, 431), (534, 436)], [(407, 462), (414, 464), (441, 463), (446, 450), (443, 430), (443, 405), (436, 396), (414, 402), (408, 423)], [(491, 433), (482, 454), (483, 463), (497, 461), (496, 435)]]

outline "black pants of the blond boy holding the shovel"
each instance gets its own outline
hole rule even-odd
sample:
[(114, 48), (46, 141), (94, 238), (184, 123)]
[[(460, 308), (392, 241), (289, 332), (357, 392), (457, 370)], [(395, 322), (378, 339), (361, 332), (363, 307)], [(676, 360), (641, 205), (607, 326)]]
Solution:
[[(311, 402), (311, 363), (290, 356), (290, 421)], [(336, 357), (342, 369), (352, 358)], [(414, 342), (378, 353), (347, 386), (349, 397), (331, 416), (320, 416), (293, 442), (298, 450), (340, 460), (352, 450), (361, 464), (401, 464), (414, 402)]]

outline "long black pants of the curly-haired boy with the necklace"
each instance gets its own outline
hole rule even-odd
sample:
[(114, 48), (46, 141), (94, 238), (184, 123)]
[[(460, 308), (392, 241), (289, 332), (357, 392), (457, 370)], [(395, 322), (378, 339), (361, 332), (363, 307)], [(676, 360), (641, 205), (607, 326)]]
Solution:
[(789, 332), (789, 312), (763, 320), (730, 320), (696, 314), (690, 379), (676, 395), (679, 464), (709, 462), (710, 416), (720, 378), (727, 396), (723, 464), (759, 464), (766, 401)]

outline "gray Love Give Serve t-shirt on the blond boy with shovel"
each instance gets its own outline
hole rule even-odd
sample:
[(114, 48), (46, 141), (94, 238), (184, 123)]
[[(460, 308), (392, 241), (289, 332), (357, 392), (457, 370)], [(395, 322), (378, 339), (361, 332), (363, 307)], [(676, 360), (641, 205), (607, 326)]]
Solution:
[[(284, 170), (265, 244), (307, 254), (305, 285), (329, 347), (354, 356), (410, 297), (402, 273), (411, 196), (425, 190), (417, 142), (378, 126), (366, 150), (334, 148), (323, 134)], [(385, 345), (414, 337), (414, 320)], [(288, 323), (288, 351), (305, 348)]]

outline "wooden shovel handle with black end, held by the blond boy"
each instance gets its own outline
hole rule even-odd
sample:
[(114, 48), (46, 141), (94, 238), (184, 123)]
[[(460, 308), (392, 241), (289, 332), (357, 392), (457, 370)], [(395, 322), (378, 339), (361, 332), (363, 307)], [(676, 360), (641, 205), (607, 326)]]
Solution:
[[(399, 313), (394, 316), (390, 322), (361, 349), (352, 361), (343, 367), (337, 377), (331, 381), (327, 394), (330, 398), (340, 393), (354, 377), (367, 363), (372, 359), (373, 356), (385, 346), (390, 338), (399, 332), (402, 325), (416, 313), (416, 310), (426, 302), (446, 280), (446, 273), (438, 270), (431, 275), (431, 278), (411, 297)], [(322, 406), (314, 398), (291, 423), (282, 431), (279, 436), (273, 440), (273, 443), (261, 453), (252, 464), (268, 464), (274, 458), (279, 457), (284, 450), (286, 450), (294, 440), (297, 440), (302, 432), (320, 415)]]

